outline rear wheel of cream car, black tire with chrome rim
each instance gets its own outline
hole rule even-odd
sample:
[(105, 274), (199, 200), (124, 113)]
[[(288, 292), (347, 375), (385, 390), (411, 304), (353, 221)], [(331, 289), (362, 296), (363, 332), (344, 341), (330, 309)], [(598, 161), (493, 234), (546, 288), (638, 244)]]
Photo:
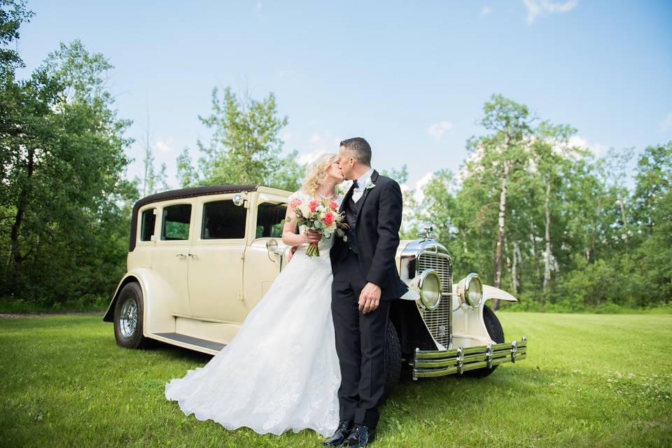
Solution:
[(142, 335), (142, 288), (139, 283), (127, 283), (119, 293), (114, 307), (114, 338), (127, 349), (141, 349), (148, 339)]

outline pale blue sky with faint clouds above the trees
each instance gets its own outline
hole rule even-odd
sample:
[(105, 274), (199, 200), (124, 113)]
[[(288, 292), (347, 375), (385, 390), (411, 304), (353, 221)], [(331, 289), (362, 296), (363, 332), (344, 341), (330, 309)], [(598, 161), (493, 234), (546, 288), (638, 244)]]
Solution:
[(365, 137), (372, 165), (409, 187), (456, 172), (491, 94), (577, 128), (604, 153), (672, 140), (672, 1), (29, 1), (27, 68), (80, 38), (115, 69), (141, 172), (147, 114), (157, 162), (198, 157), (214, 86), (274, 92), (302, 160)]

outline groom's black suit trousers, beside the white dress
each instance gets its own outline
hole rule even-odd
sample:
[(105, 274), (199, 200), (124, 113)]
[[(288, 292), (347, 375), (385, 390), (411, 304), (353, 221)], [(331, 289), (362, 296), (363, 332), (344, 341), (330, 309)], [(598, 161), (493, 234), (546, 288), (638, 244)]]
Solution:
[(385, 389), (385, 337), (390, 302), (375, 311), (359, 311), (359, 295), (366, 285), (356, 253), (348, 251), (334, 269), (331, 311), (336, 353), (341, 369), (339, 417), (375, 428)]

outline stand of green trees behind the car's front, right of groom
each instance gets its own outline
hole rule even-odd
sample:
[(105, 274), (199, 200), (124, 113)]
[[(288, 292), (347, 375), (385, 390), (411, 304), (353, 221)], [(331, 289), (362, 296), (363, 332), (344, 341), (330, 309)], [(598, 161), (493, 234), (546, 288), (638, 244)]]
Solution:
[(493, 284), (500, 269), (514, 306), (529, 310), (669, 302), (672, 142), (645, 148), (631, 192), (632, 149), (595, 159), (570, 145), (572, 127), (532, 122), (526, 106), (493, 95), (482, 120), (491, 133), (469, 139), (459, 182), (439, 170), (423, 188), (413, 220), (433, 224), (456, 280), (479, 272)]

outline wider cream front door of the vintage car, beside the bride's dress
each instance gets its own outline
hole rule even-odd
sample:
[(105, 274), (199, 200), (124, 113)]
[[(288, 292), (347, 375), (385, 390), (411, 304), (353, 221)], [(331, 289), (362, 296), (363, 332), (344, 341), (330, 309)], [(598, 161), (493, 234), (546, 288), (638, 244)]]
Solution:
[(248, 202), (236, 205), (233, 195), (202, 197), (198, 202), (198, 232), (189, 258), (189, 297), (193, 316), (242, 323), (243, 257)]

